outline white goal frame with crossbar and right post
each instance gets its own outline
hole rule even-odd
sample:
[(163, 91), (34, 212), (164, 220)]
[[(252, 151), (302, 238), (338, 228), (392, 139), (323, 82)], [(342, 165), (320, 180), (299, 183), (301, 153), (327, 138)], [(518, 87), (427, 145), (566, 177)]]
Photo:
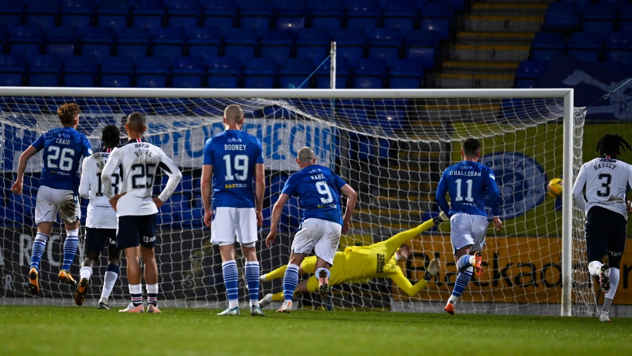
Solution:
[(427, 98), (501, 99), (558, 98), (563, 100), (562, 150), (562, 300), (561, 316), (571, 316), (573, 228), (573, 88), (551, 89), (187, 89), (187, 88), (54, 88), (0, 87), (0, 96), (33, 97), (145, 97), (145, 98)]

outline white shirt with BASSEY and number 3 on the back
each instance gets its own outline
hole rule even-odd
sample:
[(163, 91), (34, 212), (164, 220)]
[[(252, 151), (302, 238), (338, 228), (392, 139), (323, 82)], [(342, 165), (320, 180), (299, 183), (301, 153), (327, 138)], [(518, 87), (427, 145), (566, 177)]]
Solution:
[[(626, 190), (632, 186), (632, 166), (626, 162), (595, 158), (581, 166), (573, 185), (573, 199), (586, 213), (593, 206), (615, 211), (628, 218)], [(586, 193), (583, 193), (584, 187)]]

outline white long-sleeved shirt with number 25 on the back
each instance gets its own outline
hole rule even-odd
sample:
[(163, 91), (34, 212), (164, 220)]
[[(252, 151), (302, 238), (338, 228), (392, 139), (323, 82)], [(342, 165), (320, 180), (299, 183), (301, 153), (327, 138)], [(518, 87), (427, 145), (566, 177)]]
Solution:
[[(167, 185), (158, 196), (164, 202), (173, 194), (182, 179), (178, 166), (171, 158), (167, 157), (161, 148), (141, 139), (130, 139), (112, 150), (101, 174), (101, 181), (111, 181), (116, 169), (121, 169), (119, 194), (126, 194), (121, 196), (116, 204), (117, 217), (151, 215), (158, 212), (152, 199), (152, 188), (159, 167), (169, 175)], [(112, 185), (103, 184), (103, 193), (108, 199), (114, 197)]]

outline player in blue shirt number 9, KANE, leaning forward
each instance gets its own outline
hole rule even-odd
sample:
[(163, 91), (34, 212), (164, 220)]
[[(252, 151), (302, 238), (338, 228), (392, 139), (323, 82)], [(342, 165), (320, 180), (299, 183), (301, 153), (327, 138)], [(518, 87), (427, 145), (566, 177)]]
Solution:
[[(358, 193), (329, 168), (316, 164), (312, 148), (298, 150), (296, 163), (300, 170), (289, 176), (279, 199), (272, 208), (270, 234), (265, 238), (265, 246), (276, 239), (277, 225), (283, 206), (290, 196), (298, 196), (303, 209), (301, 227), (296, 232), (289, 255), (288, 268), (283, 275), (283, 306), (277, 312), (291, 312), (294, 290), (298, 285), (298, 271), (307, 254), (316, 254), (316, 272), (319, 293), (326, 297), (329, 293), (329, 268), (334, 263), (334, 255), (340, 242), (340, 234), (349, 230), (349, 220), (355, 208)], [(341, 193), (347, 196), (344, 217), (341, 208)]]

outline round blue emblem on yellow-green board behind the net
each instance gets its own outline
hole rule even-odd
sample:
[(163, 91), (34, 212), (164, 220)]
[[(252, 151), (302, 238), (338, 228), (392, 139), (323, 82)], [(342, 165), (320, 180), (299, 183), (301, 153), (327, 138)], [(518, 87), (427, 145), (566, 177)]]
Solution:
[[(497, 152), (486, 155), (480, 163), (495, 172), (501, 192), (501, 218), (518, 217), (544, 201), (549, 179), (533, 157), (521, 152)], [(488, 198), (485, 200), (487, 217), (491, 218)]]

